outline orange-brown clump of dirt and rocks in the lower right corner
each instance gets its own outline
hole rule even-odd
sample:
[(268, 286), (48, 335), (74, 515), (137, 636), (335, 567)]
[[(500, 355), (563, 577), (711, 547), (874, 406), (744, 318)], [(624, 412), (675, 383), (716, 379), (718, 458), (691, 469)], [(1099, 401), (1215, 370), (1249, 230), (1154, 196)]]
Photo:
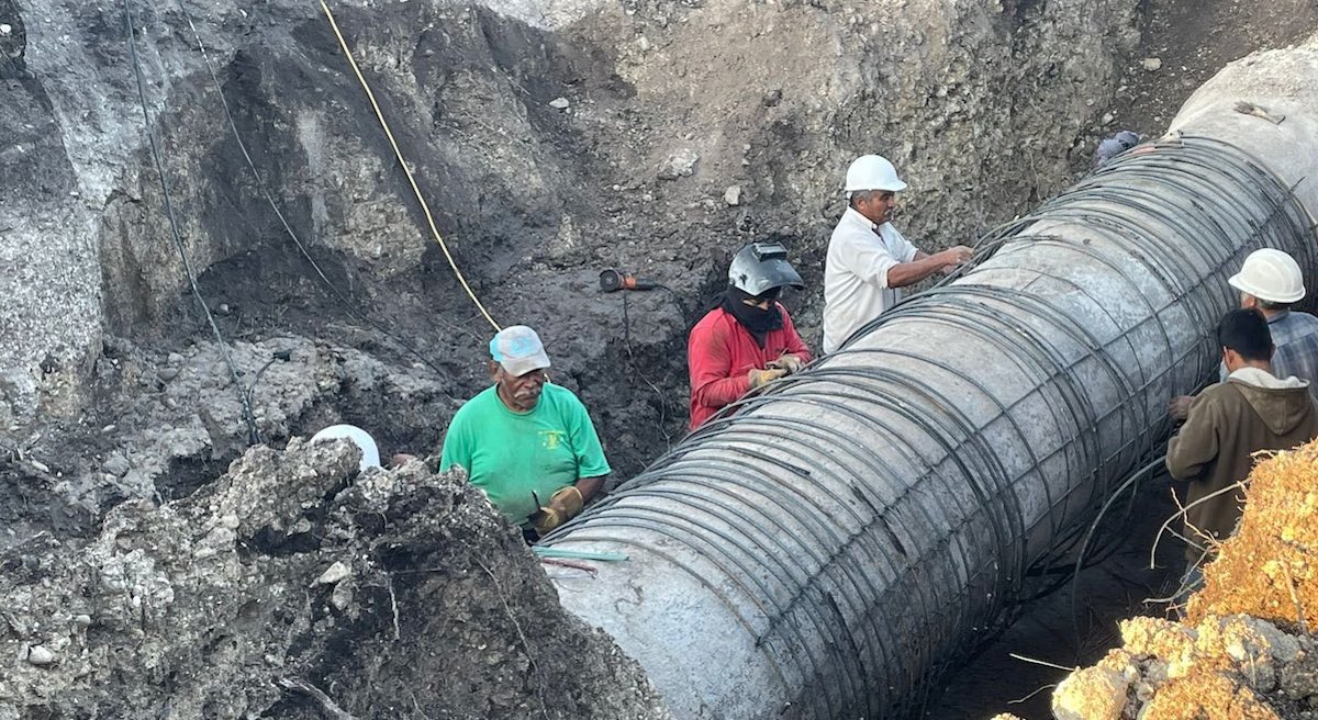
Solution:
[[(1318, 719), (1318, 442), (1249, 475), (1244, 519), (1181, 623), (1132, 617), (1122, 648), (1053, 692), (1058, 720)], [(1012, 716), (998, 716), (1004, 720)]]

